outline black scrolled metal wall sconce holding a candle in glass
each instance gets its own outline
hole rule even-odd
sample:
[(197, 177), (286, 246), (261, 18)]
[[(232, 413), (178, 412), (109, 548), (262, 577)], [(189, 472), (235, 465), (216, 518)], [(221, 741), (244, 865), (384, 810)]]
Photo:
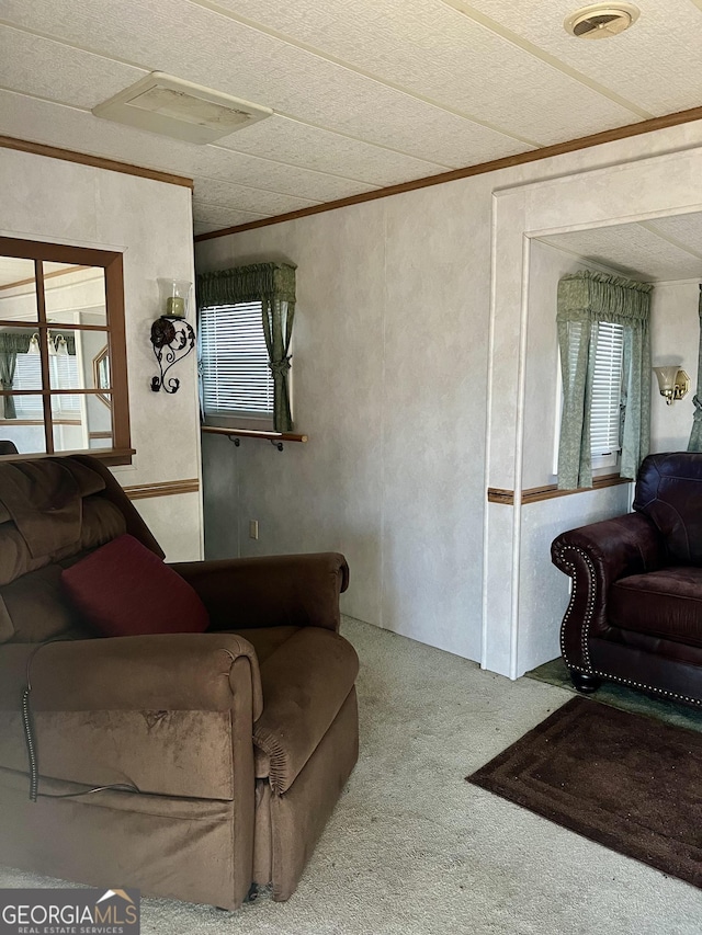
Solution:
[(166, 374), (173, 364), (186, 357), (195, 346), (195, 332), (185, 321), (191, 283), (184, 280), (159, 280), (161, 315), (151, 324), (151, 344), (159, 375), (151, 378), (151, 389), (178, 392), (180, 380)]

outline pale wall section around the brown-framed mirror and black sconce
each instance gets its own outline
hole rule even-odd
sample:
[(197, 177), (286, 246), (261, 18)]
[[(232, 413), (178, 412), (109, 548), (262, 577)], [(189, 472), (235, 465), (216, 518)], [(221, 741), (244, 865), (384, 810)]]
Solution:
[[(191, 193), (148, 179), (14, 150), (0, 150), (0, 233), (124, 253), (129, 412), (134, 464), (114, 468), (123, 486), (197, 478), (195, 358), (180, 365), (178, 394), (155, 394), (149, 343), (158, 276), (193, 280)], [(148, 504), (148, 505), (147, 505)], [(136, 502), (170, 559), (201, 555), (195, 494)], [(177, 517), (177, 521), (174, 520)]]

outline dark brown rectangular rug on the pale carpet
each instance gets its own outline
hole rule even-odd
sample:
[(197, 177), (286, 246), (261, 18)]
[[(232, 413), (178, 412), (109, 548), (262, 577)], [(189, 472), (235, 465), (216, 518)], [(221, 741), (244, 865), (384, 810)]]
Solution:
[(577, 697), (469, 783), (702, 886), (702, 736)]

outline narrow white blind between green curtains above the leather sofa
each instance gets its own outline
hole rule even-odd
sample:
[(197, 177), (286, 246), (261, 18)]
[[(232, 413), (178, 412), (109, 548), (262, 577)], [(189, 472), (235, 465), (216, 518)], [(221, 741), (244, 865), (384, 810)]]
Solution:
[(592, 458), (607, 458), (608, 464), (614, 464), (621, 451), (623, 351), (623, 326), (600, 322), (590, 409), (590, 452)]

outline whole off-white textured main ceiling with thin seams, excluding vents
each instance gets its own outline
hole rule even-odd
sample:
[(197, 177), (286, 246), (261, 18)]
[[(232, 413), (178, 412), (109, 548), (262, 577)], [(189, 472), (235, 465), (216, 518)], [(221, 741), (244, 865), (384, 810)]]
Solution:
[[(201, 233), (702, 104), (702, 0), (601, 42), (578, 5), (2, 0), (0, 134), (188, 175)], [(156, 70), (274, 115), (195, 146), (91, 114)]]

